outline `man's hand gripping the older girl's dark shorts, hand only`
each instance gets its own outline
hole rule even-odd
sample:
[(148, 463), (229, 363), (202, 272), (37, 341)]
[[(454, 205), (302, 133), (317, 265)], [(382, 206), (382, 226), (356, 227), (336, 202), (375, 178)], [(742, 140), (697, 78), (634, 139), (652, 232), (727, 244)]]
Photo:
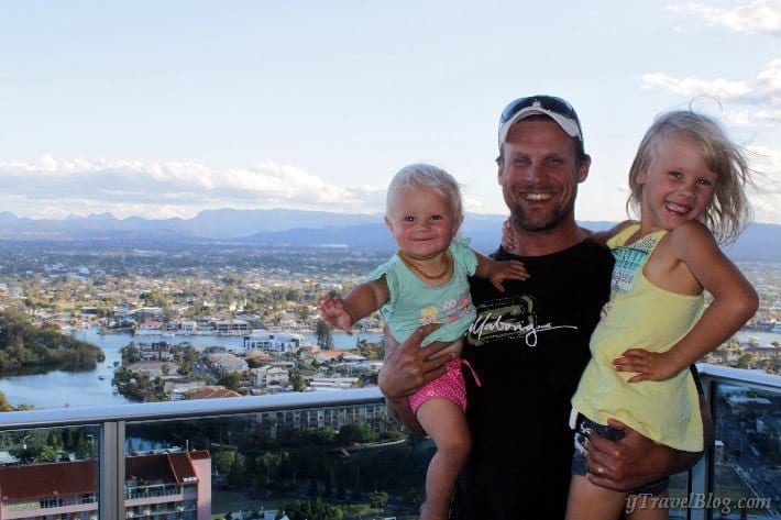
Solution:
[(607, 423), (625, 436), (616, 442), (596, 433), (588, 438), (587, 477), (597, 486), (617, 491), (644, 486), (672, 473), (674, 457), (684, 453), (657, 444), (615, 419)]

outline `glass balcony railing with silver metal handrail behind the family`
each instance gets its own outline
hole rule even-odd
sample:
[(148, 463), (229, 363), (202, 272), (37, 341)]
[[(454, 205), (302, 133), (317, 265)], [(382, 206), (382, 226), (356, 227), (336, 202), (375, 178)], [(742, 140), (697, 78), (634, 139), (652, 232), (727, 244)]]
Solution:
[[(710, 473), (672, 478), (671, 518), (779, 518), (781, 378), (703, 368), (718, 442), (702, 464)], [(38, 489), (35, 499), (8, 500), (9, 480), (0, 480), (2, 518), (97, 520), (99, 510), (107, 519), (273, 518), (283, 507), (416, 518), (430, 441), (408, 439), (376, 389), (323, 394), (2, 413), (0, 474), (22, 461), (36, 469), (94, 468), (78, 494)]]

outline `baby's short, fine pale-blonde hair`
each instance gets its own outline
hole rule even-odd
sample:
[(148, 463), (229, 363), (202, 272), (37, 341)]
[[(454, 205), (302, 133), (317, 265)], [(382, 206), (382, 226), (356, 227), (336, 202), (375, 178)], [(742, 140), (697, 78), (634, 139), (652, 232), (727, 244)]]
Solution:
[(385, 199), (385, 215), (392, 217), (391, 209), (399, 193), (420, 186), (428, 186), (441, 193), (450, 203), (450, 209), (459, 225), (463, 222), (464, 210), (459, 182), (446, 170), (429, 164), (410, 164), (399, 169), (391, 179)]

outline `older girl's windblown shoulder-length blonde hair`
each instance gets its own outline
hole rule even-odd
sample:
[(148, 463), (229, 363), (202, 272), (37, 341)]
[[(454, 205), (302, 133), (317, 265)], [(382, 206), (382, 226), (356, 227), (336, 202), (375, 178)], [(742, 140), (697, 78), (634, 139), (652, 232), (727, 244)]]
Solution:
[(653, 120), (637, 148), (629, 169), (627, 209), (639, 212), (642, 185), (638, 178), (647, 172), (663, 140), (688, 137), (702, 153), (708, 169), (718, 178), (713, 202), (700, 220), (707, 225), (718, 243), (727, 244), (751, 223), (751, 204), (744, 188), (751, 184), (751, 170), (743, 148), (729, 140), (722, 125), (713, 118), (691, 110), (664, 112)]

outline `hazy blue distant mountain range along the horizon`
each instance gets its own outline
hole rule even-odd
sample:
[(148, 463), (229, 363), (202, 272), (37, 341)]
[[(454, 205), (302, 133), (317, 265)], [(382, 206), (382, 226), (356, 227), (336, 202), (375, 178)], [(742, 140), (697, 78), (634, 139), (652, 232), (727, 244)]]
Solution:
[[(491, 252), (499, 243), (505, 215), (466, 215), (462, 234)], [(581, 222), (598, 231), (614, 222)], [(20, 218), (0, 212), (0, 240), (234, 242), (255, 246), (340, 246), (394, 250), (382, 213), (354, 214), (300, 210), (201, 211), (193, 219), (117, 219), (110, 213), (63, 220)], [(727, 248), (735, 259), (781, 261), (781, 225), (755, 223)]]

